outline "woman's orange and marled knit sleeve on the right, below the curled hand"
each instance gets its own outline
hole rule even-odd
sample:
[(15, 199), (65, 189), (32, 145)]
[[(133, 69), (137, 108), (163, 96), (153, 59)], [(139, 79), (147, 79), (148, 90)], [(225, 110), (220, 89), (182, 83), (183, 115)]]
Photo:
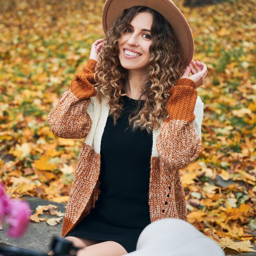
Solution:
[(161, 125), (156, 146), (160, 162), (174, 171), (193, 162), (202, 145), (193, 124), (198, 96), (194, 81), (179, 79), (170, 93), (166, 105), (169, 116)]

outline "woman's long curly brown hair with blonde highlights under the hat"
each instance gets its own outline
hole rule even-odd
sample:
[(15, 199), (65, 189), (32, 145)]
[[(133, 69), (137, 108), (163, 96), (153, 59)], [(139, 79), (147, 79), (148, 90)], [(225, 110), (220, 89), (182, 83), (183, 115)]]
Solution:
[(150, 133), (153, 128), (160, 127), (160, 118), (167, 117), (166, 104), (171, 96), (169, 90), (184, 73), (175, 34), (171, 25), (160, 13), (145, 6), (134, 6), (123, 11), (121, 17), (108, 30), (103, 42), (94, 73), (94, 79), (97, 81), (94, 86), (97, 88), (96, 97), (100, 102), (103, 97), (107, 98), (109, 115), (113, 116), (116, 126), (124, 106), (121, 96), (128, 96), (124, 92), (124, 85), (129, 75), (129, 70), (120, 64), (117, 43), (135, 14), (141, 12), (148, 12), (153, 16), (152, 44), (149, 47), (148, 77), (141, 81), (139, 92), (139, 99), (143, 97), (146, 100), (143, 101), (143, 108), (141, 108), (142, 101), (138, 101), (137, 108), (129, 116), (129, 125), (133, 131), (140, 128)]

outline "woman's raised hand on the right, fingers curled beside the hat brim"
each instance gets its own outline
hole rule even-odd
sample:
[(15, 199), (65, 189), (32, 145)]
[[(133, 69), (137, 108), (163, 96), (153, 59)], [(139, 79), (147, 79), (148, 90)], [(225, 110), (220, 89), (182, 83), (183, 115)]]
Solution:
[[(189, 76), (190, 73), (192, 73), (192, 76)], [(204, 77), (206, 75), (207, 66), (203, 62), (192, 60), (189, 66), (186, 66), (186, 70), (181, 78), (189, 78), (193, 80), (195, 82), (196, 88), (198, 88), (203, 85)]]

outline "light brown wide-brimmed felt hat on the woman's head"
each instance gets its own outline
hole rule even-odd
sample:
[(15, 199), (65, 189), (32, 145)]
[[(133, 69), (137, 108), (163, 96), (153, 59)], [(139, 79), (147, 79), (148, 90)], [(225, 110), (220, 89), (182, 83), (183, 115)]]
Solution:
[(102, 26), (105, 35), (124, 9), (143, 5), (158, 11), (168, 20), (180, 43), (180, 54), (184, 68), (191, 63), (194, 54), (194, 40), (191, 29), (180, 9), (171, 0), (106, 0), (102, 11)]

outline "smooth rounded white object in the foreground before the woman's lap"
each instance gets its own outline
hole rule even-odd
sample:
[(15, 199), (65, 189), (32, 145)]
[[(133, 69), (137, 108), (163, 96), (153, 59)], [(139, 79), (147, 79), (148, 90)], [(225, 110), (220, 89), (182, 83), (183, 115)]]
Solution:
[(225, 256), (224, 251), (185, 220), (164, 218), (146, 226), (129, 256)]

